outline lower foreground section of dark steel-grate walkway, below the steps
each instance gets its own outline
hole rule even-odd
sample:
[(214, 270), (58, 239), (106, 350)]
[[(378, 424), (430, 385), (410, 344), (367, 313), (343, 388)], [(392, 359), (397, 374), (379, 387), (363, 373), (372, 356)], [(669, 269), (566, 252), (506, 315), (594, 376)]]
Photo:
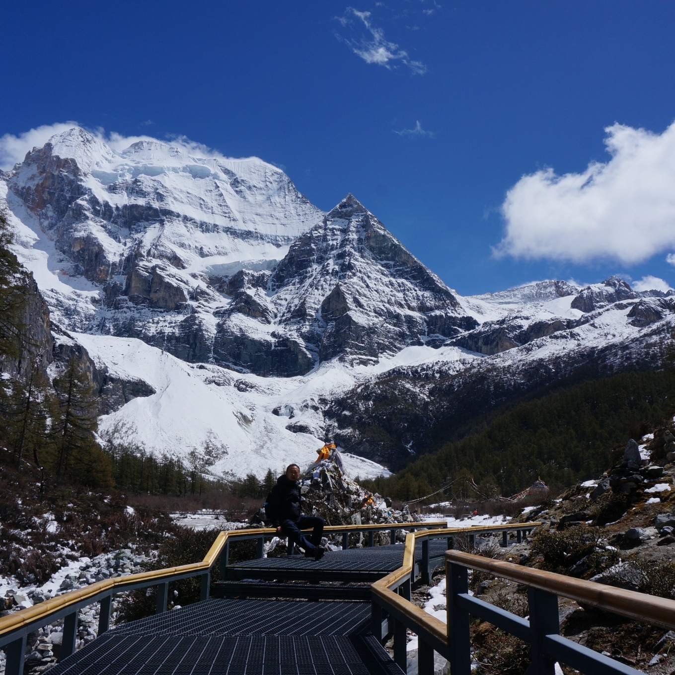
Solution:
[(209, 599), (109, 630), (53, 675), (401, 675), (365, 602)]

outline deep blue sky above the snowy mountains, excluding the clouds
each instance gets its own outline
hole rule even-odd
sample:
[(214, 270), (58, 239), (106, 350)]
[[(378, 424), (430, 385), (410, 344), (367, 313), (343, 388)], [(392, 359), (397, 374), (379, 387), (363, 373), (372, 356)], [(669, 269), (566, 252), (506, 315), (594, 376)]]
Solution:
[[(665, 253), (575, 266), (490, 248), (521, 175), (606, 161), (615, 121), (673, 121), (675, 3), (359, 1), (408, 55), (391, 69), (354, 53), (372, 35), (348, 6), (5, 3), (0, 134), (76, 120), (257, 155), (322, 209), (352, 192), (462, 294), (615, 272), (675, 284)], [(433, 136), (396, 133), (417, 121)]]

